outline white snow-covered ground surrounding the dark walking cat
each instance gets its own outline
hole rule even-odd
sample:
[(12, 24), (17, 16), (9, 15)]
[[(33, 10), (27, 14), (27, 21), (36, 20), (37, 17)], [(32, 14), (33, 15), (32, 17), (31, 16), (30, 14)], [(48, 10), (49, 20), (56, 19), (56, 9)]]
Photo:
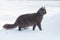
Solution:
[[(19, 15), (37, 12), (45, 6), (47, 14), (42, 21), (42, 31), (32, 27), (18, 31), (5, 30), (2, 26), (14, 23)], [(60, 40), (60, 1), (0, 1), (0, 40)]]

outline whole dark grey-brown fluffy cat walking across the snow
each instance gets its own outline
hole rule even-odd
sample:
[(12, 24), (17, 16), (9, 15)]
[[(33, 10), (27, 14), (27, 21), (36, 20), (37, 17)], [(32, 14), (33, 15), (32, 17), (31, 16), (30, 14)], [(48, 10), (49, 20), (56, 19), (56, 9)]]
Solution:
[(3, 28), (13, 29), (15, 27), (18, 27), (18, 30), (21, 31), (21, 28), (33, 26), (33, 30), (35, 30), (37, 25), (39, 30), (42, 30), (41, 21), (45, 14), (45, 7), (41, 7), (36, 13), (21, 15), (16, 19), (14, 24), (5, 24)]

